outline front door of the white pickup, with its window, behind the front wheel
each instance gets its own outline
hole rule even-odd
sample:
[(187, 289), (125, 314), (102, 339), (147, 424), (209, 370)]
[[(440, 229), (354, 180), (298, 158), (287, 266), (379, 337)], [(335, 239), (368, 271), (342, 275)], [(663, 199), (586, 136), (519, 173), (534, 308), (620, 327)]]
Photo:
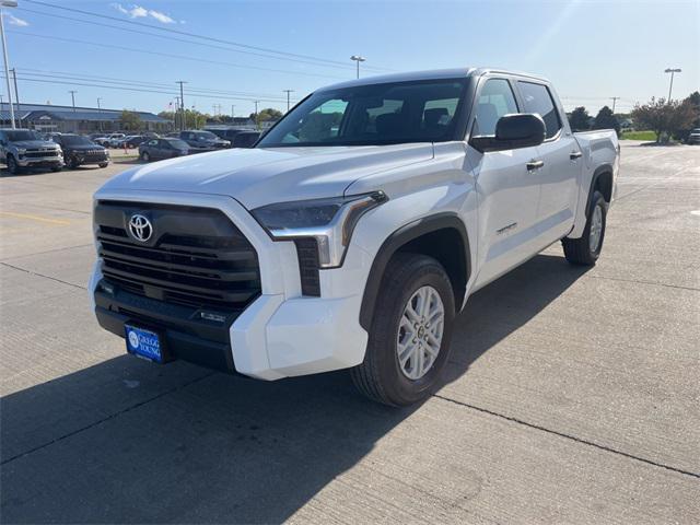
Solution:
[[(522, 113), (513, 82), (487, 77), (479, 81), (474, 102), (471, 136), (494, 136), (495, 124), (504, 115)], [(470, 147), (469, 147), (470, 148)], [(536, 148), (518, 148), (480, 153), (472, 150), (479, 199), (478, 258), (476, 285), (482, 285), (530, 257), (536, 237), (539, 182), (528, 163)]]

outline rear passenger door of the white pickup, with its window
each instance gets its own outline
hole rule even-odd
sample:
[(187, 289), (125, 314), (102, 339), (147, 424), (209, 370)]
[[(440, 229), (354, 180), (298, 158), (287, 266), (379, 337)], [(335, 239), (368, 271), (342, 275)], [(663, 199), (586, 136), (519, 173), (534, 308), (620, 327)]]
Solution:
[(545, 141), (537, 147), (538, 158), (545, 164), (534, 175), (540, 183), (538, 230), (542, 244), (548, 244), (561, 238), (573, 225), (583, 158), (550, 89), (524, 80), (517, 81), (517, 89), (525, 113), (539, 114), (547, 128)]

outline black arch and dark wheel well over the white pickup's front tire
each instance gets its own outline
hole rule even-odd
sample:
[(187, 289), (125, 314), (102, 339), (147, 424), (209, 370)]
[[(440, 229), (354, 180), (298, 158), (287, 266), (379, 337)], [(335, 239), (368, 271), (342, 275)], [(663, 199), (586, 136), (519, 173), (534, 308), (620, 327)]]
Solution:
[[(457, 244), (457, 249), (452, 248), (452, 243)], [(452, 212), (424, 217), (394, 231), (374, 257), (360, 308), (360, 325), (368, 331), (372, 325), (386, 266), (399, 252), (423, 254), (438, 259), (452, 282), (457, 312), (464, 303), (471, 273), (471, 252), (464, 221)]]

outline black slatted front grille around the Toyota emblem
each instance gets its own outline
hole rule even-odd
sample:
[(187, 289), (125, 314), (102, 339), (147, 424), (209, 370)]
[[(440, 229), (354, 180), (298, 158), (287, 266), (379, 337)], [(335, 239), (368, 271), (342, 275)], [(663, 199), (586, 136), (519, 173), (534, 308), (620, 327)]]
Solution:
[[(145, 243), (128, 233), (133, 213), (153, 225)], [(219, 210), (98, 201), (95, 225), (104, 278), (124, 291), (226, 314), (260, 293), (257, 254)]]

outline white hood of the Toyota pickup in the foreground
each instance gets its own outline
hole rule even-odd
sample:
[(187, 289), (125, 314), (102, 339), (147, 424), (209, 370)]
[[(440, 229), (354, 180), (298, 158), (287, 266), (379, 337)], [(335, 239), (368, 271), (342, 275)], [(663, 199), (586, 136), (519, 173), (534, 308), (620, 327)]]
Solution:
[(109, 179), (101, 191), (225, 195), (255, 209), (272, 202), (341, 196), (359, 178), (432, 158), (432, 143), (233, 149), (128, 170)]

